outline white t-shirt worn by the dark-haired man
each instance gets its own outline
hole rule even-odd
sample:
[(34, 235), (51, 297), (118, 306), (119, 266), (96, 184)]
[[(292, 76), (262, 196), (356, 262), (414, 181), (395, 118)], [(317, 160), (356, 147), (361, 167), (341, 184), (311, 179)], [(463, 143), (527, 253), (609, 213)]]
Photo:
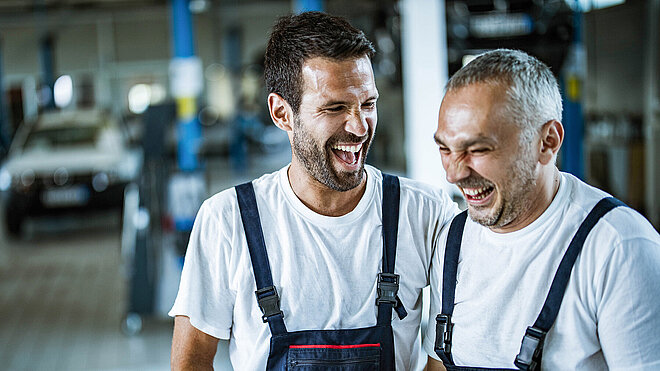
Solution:
[[(376, 324), (376, 277), (381, 271), (382, 175), (366, 166), (367, 185), (350, 213), (319, 215), (293, 193), (287, 167), (255, 180), (257, 207), (284, 323), (298, 330), (350, 329)], [(421, 369), (418, 337), (421, 290), (440, 231), (458, 207), (440, 190), (400, 178), (395, 273), (408, 311), (392, 313), (398, 370)], [(229, 339), (235, 369), (264, 370), (270, 329), (261, 319), (256, 283), (235, 190), (202, 205), (190, 237), (171, 316), (190, 317), (199, 330)]]

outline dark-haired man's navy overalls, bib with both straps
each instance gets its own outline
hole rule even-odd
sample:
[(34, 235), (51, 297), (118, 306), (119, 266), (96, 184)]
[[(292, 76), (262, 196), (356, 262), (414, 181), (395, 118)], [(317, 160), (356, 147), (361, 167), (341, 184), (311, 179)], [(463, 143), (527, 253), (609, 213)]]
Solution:
[(383, 266), (377, 277), (375, 303), (378, 317), (375, 326), (358, 329), (287, 331), (252, 183), (236, 186), (236, 194), (257, 284), (257, 302), (272, 335), (266, 370), (394, 370), (392, 309), (401, 319), (407, 315), (397, 296), (399, 276), (394, 274), (399, 179), (383, 174)]

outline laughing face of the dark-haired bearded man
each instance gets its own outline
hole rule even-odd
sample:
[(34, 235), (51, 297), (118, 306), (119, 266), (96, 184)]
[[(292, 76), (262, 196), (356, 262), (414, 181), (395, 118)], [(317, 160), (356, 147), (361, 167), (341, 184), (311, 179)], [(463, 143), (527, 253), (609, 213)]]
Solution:
[(303, 94), (293, 127), (295, 160), (326, 187), (360, 185), (376, 129), (378, 91), (368, 57), (312, 58), (302, 69)]

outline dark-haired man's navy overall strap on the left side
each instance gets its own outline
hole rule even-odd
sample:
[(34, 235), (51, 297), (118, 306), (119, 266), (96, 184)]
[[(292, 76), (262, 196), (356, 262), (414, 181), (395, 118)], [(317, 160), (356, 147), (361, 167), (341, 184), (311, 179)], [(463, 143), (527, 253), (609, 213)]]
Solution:
[(280, 297), (277, 289), (273, 285), (273, 275), (270, 271), (268, 254), (266, 253), (266, 243), (261, 229), (261, 220), (259, 219), (259, 210), (257, 210), (257, 200), (254, 195), (252, 182), (243, 183), (236, 188), (236, 197), (238, 198), (238, 208), (241, 212), (241, 221), (245, 229), (245, 238), (247, 239), (250, 259), (252, 260), (252, 269), (257, 284), (257, 302), (263, 312), (262, 319), (268, 322), (270, 332), (273, 336), (286, 334), (284, 325), (284, 314), (280, 310)]

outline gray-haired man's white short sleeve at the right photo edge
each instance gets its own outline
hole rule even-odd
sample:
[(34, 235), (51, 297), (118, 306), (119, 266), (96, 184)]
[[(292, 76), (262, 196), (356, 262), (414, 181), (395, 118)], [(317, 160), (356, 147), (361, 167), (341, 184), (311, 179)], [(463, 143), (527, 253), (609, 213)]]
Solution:
[(660, 243), (615, 247), (597, 277), (598, 338), (610, 370), (660, 369)]

